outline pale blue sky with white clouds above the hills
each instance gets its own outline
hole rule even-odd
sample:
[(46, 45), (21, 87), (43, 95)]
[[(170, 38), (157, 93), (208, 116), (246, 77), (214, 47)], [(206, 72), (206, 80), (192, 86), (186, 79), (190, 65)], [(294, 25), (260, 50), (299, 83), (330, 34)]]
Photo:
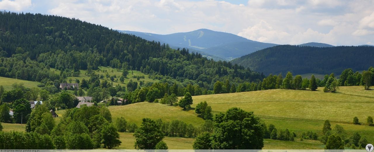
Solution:
[(1, 0), (0, 10), (156, 34), (207, 28), (266, 43), (374, 45), (374, 0)]

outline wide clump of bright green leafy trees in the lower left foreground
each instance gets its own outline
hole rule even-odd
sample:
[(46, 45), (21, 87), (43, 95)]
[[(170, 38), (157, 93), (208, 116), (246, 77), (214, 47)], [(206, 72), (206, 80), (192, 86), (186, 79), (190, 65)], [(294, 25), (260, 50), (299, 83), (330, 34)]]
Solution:
[(82, 105), (80, 109), (68, 109), (61, 122), (55, 124), (47, 106), (37, 105), (27, 121), (26, 131), (51, 139), (49, 149), (111, 149), (121, 143), (105, 107)]

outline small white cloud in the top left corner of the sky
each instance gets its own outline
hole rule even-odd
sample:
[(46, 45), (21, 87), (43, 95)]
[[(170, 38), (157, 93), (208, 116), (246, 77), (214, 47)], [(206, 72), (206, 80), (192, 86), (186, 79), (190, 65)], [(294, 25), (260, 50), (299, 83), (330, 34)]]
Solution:
[(31, 0), (2, 0), (0, 1), (0, 10), (22, 11), (31, 6)]

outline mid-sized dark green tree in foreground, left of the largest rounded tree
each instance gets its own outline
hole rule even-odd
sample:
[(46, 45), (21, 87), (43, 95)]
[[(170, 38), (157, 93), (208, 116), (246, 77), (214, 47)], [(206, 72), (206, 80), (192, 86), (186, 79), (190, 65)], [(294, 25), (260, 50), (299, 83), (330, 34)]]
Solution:
[(135, 149), (156, 149), (157, 143), (164, 138), (160, 124), (150, 118), (143, 118), (143, 122), (135, 133)]

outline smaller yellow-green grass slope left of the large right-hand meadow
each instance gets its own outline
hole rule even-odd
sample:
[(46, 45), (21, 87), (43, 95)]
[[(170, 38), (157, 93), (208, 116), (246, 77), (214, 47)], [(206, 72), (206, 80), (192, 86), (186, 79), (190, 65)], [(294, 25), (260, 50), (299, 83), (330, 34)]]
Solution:
[(142, 118), (159, 119), (163, 121), (181, 120), (187, 124), (200, 125), (203, 119), (197, 117), (194, 110), (183, 111), (177, 106), (168, 106), (160, 103), (139, 102), (124, 106), (109, 106), (112, 120), (124, 117), (126, 121), (140, 125)]

